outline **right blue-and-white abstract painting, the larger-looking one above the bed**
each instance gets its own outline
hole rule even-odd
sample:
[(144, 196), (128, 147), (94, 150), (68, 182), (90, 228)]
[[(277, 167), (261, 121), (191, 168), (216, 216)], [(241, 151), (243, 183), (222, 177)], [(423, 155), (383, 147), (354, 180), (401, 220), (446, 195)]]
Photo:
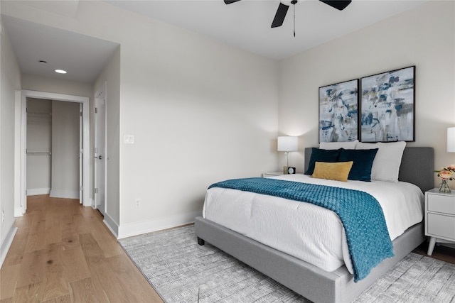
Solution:
[(415, 67), (360, 80), (360, 141), (414, 141)]

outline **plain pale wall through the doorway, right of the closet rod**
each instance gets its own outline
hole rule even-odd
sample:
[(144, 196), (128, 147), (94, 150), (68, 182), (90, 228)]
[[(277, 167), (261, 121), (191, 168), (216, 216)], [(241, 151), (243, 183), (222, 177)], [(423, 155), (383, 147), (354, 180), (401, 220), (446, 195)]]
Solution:
[(79, 196), (79, 103), (52, 101), (52, 183), (50, 197)]

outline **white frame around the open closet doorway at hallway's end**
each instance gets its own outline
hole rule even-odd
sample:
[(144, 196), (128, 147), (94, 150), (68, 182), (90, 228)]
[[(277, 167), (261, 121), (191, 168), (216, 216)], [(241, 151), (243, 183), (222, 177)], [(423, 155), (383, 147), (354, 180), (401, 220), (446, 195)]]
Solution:
[(90, 201), (90, 98), (70, 94), (38, 92), (27, 89), (21, 91), (21, 209), (27, 210), (26, 193), (26, 129), (27, 129), (27, 98), (48, 99), (82, 103), (82, 205), (91, 206)]

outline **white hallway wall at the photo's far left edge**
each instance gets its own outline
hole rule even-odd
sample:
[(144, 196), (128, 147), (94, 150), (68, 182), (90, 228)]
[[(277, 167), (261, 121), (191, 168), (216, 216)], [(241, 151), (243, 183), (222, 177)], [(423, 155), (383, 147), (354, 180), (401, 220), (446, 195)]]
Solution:
[[(3, 25), (0, 26), (3, 28)], [(0, 266), (14, 230), (14, 189), (17, 178), (15, 158), (15, 91), (21, 89), (21, 75), (8, 33), (0, 31)]]

